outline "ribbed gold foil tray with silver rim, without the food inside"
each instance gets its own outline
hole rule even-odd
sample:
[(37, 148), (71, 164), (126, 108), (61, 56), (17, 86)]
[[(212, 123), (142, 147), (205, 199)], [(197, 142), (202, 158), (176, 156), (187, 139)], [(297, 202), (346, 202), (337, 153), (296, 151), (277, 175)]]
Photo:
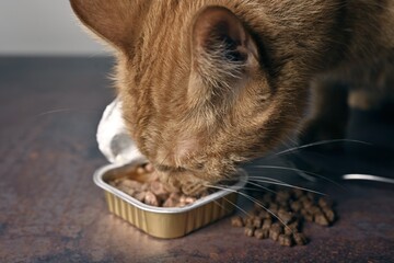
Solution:
[[(137, 165), (135, 163), (134, 165)], [(107, 183), (125, 173), (132, 164), (108, 164), (94, 173), (94, 182), (105, 191), (109, 211), (135, 227), (157, 238), (178, 238), (231, 214), (239, 191), (245, 185), (247, 174), (239, 170), (240, 181), (184, 207), (154, 207), (146, 205)]]

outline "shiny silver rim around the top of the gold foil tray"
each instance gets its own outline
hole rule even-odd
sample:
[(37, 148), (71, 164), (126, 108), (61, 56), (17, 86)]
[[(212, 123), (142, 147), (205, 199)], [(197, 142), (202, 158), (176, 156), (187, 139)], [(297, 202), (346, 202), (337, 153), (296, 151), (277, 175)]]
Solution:
[(126, 201), (130, 205), (134, 205), (142, 210), (159, 213), (159, 214), (181, 214), (181, 213), (186, 213), (186, 211), (193, 210), (197, 207), (204, 206), (212, 201), (222, 198), (231, 193), (237, 193), (237, 191), (240, 191), (243, 186), (245, 186), (245, 184), (247, 182), (247, 178), (248, 178), (246, 171), (244, 169), (239, 168), (237, 173), (240, 174), (240, 180), (236, 184), (228, 186), (228, 191), (225, 191), (225, 190), (217, 191), (210, 195), (207, 195), (200, 199), (197, 199), (195, 203), (193, 203), (190, 205), (186, 205), (183, 207), (155, 207), (155, 206), (150, 206), (150, 205), (143, 204), (142, 202), (137, 201), (136, 198), (131, 197), (130, 195), (107, 184), (103, 180), (103, 175), (106, 172), (108, 172), (109, 170), (118, 169), (121, 167), (128, 167), (128, 165), (137, 165), (137, 164), (141, 164), (141, 162), (135, 161), (135, 162), (131, 162), (128, 164), (112, 163), (112, 164), (103, 165), (94, 172), (93, 181), (99, 187), (103, 188), (104, 191), (109, 192), (111, 194), (116, 195), (117, 197)]

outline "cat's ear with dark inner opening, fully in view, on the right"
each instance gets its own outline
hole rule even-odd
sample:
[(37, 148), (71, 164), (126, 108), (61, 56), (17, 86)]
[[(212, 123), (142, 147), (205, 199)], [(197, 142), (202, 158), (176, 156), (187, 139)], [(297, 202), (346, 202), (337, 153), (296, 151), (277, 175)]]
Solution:
[(242, 79), (258, 66), (256, 43), (241, 20), (222, 7), (197, 14), (192, 45), (194, 68), (213, 85)]

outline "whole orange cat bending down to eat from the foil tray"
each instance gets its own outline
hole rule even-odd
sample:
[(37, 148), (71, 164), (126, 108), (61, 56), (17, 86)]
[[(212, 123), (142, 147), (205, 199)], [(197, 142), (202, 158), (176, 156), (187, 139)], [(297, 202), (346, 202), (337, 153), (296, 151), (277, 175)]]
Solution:
[[(185, 192), (223, 179), (237, 162), (264, 156), (294, 135), (304, 124), (311, 90), (323, 90), (315, 95), (314, 121), (306, 124), (317, 132), (304, 133), (318, 138), (323, 127), (331, 135), (329, 125), (313, 126), (332, 119), (324, 111), (327, 105), (346, 108), (347, 96), (326, 89), (322, 79), (351, 79), (355, 65), (370, 72), (375, 66), (370, 61), (387, 60), (384, 68), (394, 68), (393, 0), (71, 4), (81, 21), (117, 50), (115, 80), (131, 137)], [(367, 82), (383, 78), (380, 73)], [(366, 103), (364, 89), (357, 92), (356, 85), (352, 105), (366, 107), (381, 99)], [(334, 136), (343, 132), (333, 130)]]

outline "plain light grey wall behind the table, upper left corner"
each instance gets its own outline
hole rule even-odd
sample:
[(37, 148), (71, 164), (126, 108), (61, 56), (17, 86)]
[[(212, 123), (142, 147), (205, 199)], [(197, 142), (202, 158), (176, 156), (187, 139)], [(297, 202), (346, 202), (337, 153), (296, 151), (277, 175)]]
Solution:
[(0, 56), (100, 56), (106, 50), (79, 26), (68, 0), (0, 0)]

